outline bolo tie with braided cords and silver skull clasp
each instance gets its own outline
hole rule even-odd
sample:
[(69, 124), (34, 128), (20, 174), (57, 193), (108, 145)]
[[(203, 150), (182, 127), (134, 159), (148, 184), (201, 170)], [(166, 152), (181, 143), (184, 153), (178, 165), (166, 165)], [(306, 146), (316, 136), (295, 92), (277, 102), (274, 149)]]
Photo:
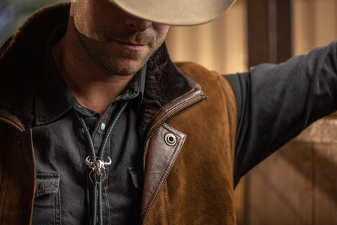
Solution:
[(117, 120), (123, 113), (124, 109), (128, 102), (124, 102), (117, 110), (116, 116), (110, 122), (110, 125), (107, 129), (107, 133), (103, 137), (103, 143), (100, 146), (100, 150), (98, 151), (98, 155), (95, 154), (95, 148), (93, 146), (93, 139), (91, 139), (91, 135), (89, 133), (88, 127), (86, 127), (86, 122), (81, 118), (78, 113), (76, 113), (77, 118), (81, 124), (81, 127), (84, 131), (86, 139), (88, 141), (88, 146), (90, 149), (88, 157), (85, 159), (85, 164), (89, 167), (89, 179), (91, 183), (93, 183), (91, 188), (91, 225), (103, 225), (103, 196), (102, 196), (102, 183), (105, 180), (107, 174), (105, 172), (106, 167), (110, 166), (112, 161), (109, 156), (107, 156), (107, 160), (105, 161), (105, 149), (107, 147), (107, 142), (112, 133), (112, 129), (114, 125), (117, 123)]

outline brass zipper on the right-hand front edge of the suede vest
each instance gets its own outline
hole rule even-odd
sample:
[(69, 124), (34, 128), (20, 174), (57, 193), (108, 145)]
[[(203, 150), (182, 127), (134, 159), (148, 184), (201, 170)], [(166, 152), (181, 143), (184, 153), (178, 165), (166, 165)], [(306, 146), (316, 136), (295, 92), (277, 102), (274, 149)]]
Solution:
[(199, 103), (199, 101), (202, 101), (206, 98), (204, 94), (201, 94), (201, 96), (198, 96), (194, 100), (190, 101), (189, 103), (185, 103), (184, 105), (180, 106), (176, 110), (173, 110), (173, 112), (169, 113), (164, 117), (160, 122), (157, 124), (154, 129), (152, 129), (149, 136), (147, 136), (145, 147), (144, 147), (144, 153), (143, 153), (143, 175), (145, 176), (145, 167), (146, 167), (146, 156), (147, 156), (147, 148), (149, 147), (150, 139), (152, 138), (153, 134), (161, 127), (169, 118), (173, 117), (174, 115), (180, 113), (181, 111), (185, 110), (186, 108), (189, 108), (192, 105), (195, 105), (196, 103)]

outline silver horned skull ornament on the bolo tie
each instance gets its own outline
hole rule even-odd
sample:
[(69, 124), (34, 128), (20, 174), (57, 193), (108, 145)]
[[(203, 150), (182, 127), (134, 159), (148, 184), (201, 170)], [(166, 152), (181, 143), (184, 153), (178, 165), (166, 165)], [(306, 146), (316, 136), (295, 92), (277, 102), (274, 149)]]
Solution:
[(106, 167), (111, 165), (111, 159), (108, 156), (107, 157), (108, 162), (104, 162), (102, 160), (96, 160), (91, 161), (90, 156), (86, 158), (86, 165), (91, 169), (91, 172), (89, 173), (89, 179), (91, 182), (94, 182), (92, 179), (92, 176), (94, 176), (94, 180), (96, 184), (99, 184), (100, 182), (103, 182), (107, 176), (105, 173)]

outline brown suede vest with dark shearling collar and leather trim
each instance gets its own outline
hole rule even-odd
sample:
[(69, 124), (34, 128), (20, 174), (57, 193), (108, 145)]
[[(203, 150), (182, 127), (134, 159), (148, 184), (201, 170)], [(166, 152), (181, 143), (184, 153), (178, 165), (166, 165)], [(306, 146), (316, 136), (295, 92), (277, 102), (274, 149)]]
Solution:
[[(0, 224), (32, 221), (35, 84), (43, 75), (46, 37), (67, 21), (69, 6), (41, 9), (0, 51)], [(145, 143), (142, 224), (236, 224), (236, 110), (221, 75), (194, 63), (174, 65), (164, 45), (152, 56), (139, 130)]]

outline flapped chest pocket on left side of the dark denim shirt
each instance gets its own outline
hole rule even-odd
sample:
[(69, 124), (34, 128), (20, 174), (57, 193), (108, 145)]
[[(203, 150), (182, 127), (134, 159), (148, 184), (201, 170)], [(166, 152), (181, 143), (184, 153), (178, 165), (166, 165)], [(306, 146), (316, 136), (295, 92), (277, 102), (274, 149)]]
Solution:
[(60, 174), (37, 173), (33, 225), (61, 224)]

